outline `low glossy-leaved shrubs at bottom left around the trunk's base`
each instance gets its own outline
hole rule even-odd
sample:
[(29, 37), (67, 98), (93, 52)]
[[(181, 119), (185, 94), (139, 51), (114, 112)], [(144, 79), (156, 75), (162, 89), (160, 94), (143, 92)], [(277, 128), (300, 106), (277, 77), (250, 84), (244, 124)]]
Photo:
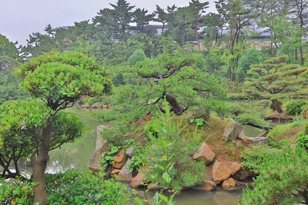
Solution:
[[(130, 192), (126, 185), (103, 177), (102, 172), (75, 169), (46, 174), (47, 204), (127, 204)], [(0, 184), (1, 204), (33, 204), (33, 182), (2, 179)]]

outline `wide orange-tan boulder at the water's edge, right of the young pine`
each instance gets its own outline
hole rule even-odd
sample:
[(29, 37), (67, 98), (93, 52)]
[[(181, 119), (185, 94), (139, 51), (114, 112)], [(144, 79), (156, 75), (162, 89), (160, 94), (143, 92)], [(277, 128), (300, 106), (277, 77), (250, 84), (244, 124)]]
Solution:
[(215, 161), (213, 166), (213, 179), (216, 184), (226, 180), (229, 176), (234, 175), (241, 169), (237, 162), (226, 163)]

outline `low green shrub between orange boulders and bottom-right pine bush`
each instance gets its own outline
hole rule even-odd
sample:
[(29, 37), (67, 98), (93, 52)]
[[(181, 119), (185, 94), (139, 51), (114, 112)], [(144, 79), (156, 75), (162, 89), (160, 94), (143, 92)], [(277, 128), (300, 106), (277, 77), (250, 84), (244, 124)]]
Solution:
[(246, 147), (241, 153), (243, 158), (241, 165), (243, 168), (258, 174), (262, 168), (262, 163), (274, 155), (281, 155), (282, 151), (275, 148), (267, 147), (266, 145), (255, 145)]

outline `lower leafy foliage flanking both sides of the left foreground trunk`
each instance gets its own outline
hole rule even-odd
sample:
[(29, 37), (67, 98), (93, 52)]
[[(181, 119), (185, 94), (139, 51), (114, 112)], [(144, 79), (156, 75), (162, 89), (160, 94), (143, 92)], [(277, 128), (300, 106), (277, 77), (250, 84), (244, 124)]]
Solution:
[[(30, 159), (37, 154), (40, 134), (50, 115), (52, 112), (44, 108), (42, 101), (16, 100), (0, 106), (0, 136), (5, 142), (0, 152), (0, 166), (4, 169), (0, 177), (22, 176), (18, 161)], [(85, 126), (79, 120), (80, 117), (69, 112), (57, 113), (53, 120), (49, 150), (83, 136)], [(10, 170), (7, 165), (13, 165), (15, 171)]]

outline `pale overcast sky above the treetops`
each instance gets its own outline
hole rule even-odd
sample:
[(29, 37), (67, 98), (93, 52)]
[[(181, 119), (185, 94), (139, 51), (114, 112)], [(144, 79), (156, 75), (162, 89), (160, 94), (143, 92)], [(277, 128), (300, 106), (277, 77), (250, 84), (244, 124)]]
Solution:
[[(110, 8), (109, 3), (117, 0), (0, 0), (0, 34), (7, 36), (10, 41), (25, 45), (26, 39), (32, 32), (44, 31), (46, 25), (53, 28), (72, 26), (74, 22), (91, 19), (100, 9)], [(187, 6), (190, 0), (127, 0), (136, 8), (145, 8), (149, 12), (156, 5), (166, 8), (176, 4), (178, 7)], [(201, 1), (203, 2), (203, 1)], [(213, 0), (209, 0), (208, 11), (215, 12)]]

